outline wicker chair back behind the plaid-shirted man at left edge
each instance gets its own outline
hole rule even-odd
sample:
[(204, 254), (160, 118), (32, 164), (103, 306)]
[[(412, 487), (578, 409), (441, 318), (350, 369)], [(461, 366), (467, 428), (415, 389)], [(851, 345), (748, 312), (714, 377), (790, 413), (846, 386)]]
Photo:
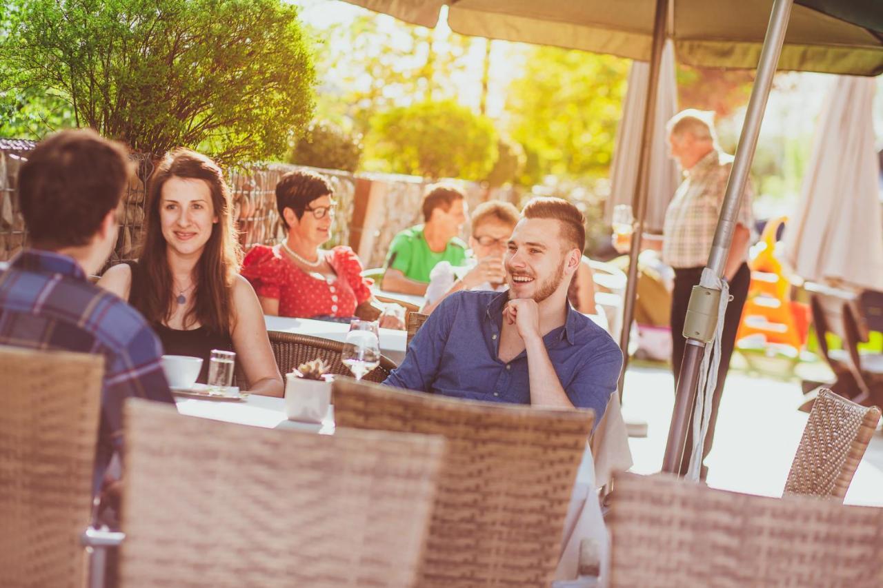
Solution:
[(0, 347), (0, 585), (80, 586), (101, 356)]

